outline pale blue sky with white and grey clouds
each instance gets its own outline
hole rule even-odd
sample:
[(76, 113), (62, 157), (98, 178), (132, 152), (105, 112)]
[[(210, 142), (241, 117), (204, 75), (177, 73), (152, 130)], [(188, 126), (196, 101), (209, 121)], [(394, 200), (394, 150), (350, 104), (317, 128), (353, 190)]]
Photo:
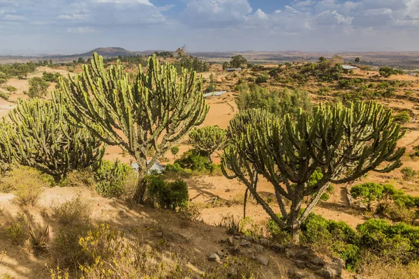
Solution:
[(0, 0), (0, 54), (418, 50), (419, 0)]

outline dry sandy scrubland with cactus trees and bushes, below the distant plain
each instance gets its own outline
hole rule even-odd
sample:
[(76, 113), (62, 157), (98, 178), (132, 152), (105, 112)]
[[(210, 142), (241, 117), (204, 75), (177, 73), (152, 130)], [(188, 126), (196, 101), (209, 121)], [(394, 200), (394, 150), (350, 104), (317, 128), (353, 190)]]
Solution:
[(0, 278), (419, 278), (419, 78), (342, 63), (0, 66)]

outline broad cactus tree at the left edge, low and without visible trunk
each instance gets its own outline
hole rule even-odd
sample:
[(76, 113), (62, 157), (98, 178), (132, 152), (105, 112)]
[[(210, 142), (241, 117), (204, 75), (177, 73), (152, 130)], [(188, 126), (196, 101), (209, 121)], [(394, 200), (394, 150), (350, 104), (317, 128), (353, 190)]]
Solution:
[(98, 165), (105, 153), (103, 142), (65, 118), (62, 103), (18, 100), (9, 120), (0, 124), (0, 160), (35, 167), (56, 181), (72, 169)]

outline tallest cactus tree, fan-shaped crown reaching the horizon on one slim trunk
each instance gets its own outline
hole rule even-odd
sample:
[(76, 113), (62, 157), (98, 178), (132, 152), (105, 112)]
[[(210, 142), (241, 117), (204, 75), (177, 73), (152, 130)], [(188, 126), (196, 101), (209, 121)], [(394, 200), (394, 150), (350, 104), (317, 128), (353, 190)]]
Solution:
[[(148, 169), (191, 128), (205, 119), (208, 107), (203, 98), (202, 79), (196, 73), (160, 66), (149, 57), (147, 73), (142, 67), (130, 82), (120, 61), (105, 70), (103, 57), (94, 54), (91, 65), (68, 85), (61, 80), (59, 93), (70, 105), (71, 116), (104, 142), (120, 146), (139, 166), (138, 201), (142, 202)], [(100, 130), (104, 134), (98, 133)], [(147, 151), (154, 156), (147, 163)]]

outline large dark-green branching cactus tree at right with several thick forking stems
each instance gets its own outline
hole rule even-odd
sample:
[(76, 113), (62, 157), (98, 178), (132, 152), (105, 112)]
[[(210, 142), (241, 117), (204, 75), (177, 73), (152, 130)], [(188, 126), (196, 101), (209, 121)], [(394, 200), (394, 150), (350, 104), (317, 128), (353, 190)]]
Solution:
[[(295, 119), (261, 110), (240, 112), (230, 121), (228, 134), (232, 144), (223, 153), (224, 174), (243, 181), (272, 220), (293, 233), (295, 242), (330, 183), (348, 183), (369, 171), (390, 172), (402, 165), (405, 151), (397, 148), (404, 133), (391, 111), (371, 102), (318, 105), (313, 116), (300, 111)], [(272, 184), (283, 218), (260, 197), (259, 175)]]

